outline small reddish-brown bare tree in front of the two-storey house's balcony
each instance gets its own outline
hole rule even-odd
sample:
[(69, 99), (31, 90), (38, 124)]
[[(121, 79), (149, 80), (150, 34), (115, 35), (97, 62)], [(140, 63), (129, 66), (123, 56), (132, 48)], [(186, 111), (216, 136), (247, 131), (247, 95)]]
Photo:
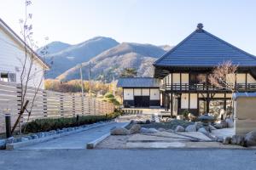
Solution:
[[(238, 65), (233, 65), (230, 60), (218, 65), (209, 75), (209, 82), (217, 88), (231, 91), (230, 108), (233, 105), (233, 94), (236, 92), (236, 71)], [(229, 113), (230, 116), (231, 113)]]

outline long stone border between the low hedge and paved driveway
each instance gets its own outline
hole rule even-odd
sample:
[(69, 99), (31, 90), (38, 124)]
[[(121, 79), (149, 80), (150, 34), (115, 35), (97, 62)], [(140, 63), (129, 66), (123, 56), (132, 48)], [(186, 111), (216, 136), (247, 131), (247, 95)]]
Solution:
[(91, 124), (88, 125), (87, 127), (83, 127), (83, 128), (79, 128), (73, 131), (68, 131), (68, 132), (64, 132), (64, 133), (57, 133), (57, 134), (53, 134), (47, 137), (43, 137), (43, 138), (39, 138), (39, 139), (31, 139), (31, 140), (27, 140), (24, 142), (17, 142), (17, 143), (13, 143), (13, 144), (6, 144), (6, 150), (15, 150), (18, 149), (20, 147), (24, 147), (24, 146), (28, 146), (28, 145), (32, 145), (32, 144), (39, 144), (42, 142), (46, 142), (49, 141), (51, 139), (57, 139), (57, 138), (61, 138), (62, 136), (67, 136), (69, 134), (73, 134), (73, 133), (80, 133), (86, 130), (90, 130), (96, 127), (102, 127), (108, 124), (113, 124), (114, 122), (103, 122), (103, 123), (96, 123), (96, 124)]

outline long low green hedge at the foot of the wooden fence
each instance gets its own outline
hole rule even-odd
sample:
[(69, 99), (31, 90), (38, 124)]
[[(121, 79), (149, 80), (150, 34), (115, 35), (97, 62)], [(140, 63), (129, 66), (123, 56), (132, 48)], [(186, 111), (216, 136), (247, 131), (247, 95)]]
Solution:
[(23, 133), (47, 132), (50, 130), (61, 129), (64, 127), (77, 127), (78, 125), (108, 121), (120, 115), (121, 113), (119, 111), (114, 111), (111, 114), (101, 116), (79, 116), (79, 124), (76, 117), (37, 119), (23, 125), (22, 131)]

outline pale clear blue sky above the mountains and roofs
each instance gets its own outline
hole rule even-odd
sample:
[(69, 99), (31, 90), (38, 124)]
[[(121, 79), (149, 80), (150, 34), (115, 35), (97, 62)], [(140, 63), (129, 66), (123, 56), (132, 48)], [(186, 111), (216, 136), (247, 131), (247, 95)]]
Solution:
[[(24, 0), (0, 0), (0, 17), (16, 32)], [(197, 23), (256, 55), (255, 0), (34, 0), (34, 38), (71, 44), (96, 36), (119, 42), (175, 45)]]

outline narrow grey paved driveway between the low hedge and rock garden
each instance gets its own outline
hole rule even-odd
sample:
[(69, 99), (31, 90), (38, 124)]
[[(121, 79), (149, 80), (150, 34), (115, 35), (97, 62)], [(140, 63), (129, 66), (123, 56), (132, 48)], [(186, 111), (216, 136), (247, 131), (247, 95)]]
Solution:
[[(73, 133), (58, 139), (52, 139), (44, 143), (33, 144), (18, 150), (44, 150), (44, 149), (85, 149), (85, 144), (102, 135), (109, 133), (113, 127), (121, 127), (125, 122), (114, 122), (102, 127), (92, 128), (80, 133)], [(0, 168), (1, 169), (1, 168)]]

